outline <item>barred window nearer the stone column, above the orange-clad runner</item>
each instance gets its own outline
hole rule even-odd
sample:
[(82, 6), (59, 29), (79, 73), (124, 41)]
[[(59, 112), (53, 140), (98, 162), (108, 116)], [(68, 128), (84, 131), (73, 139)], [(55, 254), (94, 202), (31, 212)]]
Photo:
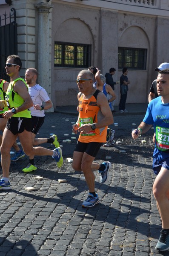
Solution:
[(54, 42), (54, 67), (80, 67), (91, 66), (90, 44), (73, 44)]

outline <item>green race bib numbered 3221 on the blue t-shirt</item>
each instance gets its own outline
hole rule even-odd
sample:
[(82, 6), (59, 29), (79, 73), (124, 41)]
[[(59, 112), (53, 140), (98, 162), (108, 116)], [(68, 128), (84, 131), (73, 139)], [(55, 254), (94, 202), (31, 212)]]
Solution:
[(169, 150), (169, 128), (156, 126), (155, 128), (156, 148), (161, 151)]

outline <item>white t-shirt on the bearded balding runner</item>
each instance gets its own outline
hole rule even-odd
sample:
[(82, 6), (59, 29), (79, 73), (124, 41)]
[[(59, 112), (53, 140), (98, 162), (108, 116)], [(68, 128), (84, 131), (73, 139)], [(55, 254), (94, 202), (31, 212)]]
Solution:
[[(46, 90), (39, 84), (36, 84), (33, 87), (29, 87), (28, 85), (28, 90), (34, 105), (39, 104), (41, 106), (42, 102), (47, 102), (48, 100), (50, 100)], [(44, 110), (41, 111), (34, 109), (34, 106), (29, 109), (32, 116), (45, 116)]]

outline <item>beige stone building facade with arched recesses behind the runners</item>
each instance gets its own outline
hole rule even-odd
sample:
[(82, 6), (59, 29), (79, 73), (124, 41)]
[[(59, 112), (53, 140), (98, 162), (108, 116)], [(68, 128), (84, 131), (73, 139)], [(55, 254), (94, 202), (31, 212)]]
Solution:
[[(21, 75), (28, 67), (37, 68), (38, 83), (46, 88), (54, 108), (77, 105), (75, 80), (87, 64), (98, 67), (103, 75), (115, 67), (113, 78), (119, 80), (120, 52), (126, 52), (126, 57), (120, 56), (131, 64), (127, 103), (145, 103), (157, 77), (154, 69), (169, 62), (169, 0), (11, 0), (11, 6), (2, 1), (0, 14), (9, 12), (11, 7), (16, 10)], [(66, 53), (58, 47), (70, 49), (70, 45), (88, 48), (86, 66), (82, 61), (78, 66), (77, 59), (76, 65), (72, 65), (73, 59), (69, 65), (59, 59), (59, 55), (66, 58)], [(79, 56), (84, 58), (84, 53)], [(69, 57), (74, 54), (78, 56), (78, 52), (69, 52)], [(144, 64), (139, 66), (139, 62)], [(119, 85), (115, 92), (118, 105)]]

